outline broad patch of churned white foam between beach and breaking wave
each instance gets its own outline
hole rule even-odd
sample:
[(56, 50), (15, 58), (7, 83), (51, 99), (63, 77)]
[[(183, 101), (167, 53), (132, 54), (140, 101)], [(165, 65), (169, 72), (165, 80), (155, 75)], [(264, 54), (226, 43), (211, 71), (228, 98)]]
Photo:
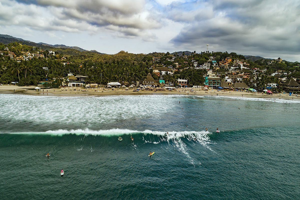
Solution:
[[(0, 94), (0, 115), (16, 121), (109, 123), (136, 117), (160, 118), (175, 104), (162, 95), (46, 97)], [(151, 106), (149, 106), (151, 105)], [(155, 106), (152, 106), (155, 105)], [(153, 116), (153, 113), (156, 115)]]

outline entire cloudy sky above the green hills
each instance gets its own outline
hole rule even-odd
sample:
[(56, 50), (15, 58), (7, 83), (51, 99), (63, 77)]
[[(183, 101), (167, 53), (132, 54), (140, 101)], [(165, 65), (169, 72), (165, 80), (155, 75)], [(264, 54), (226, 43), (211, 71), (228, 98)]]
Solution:
[(116, 54), (236, 52), (300, 61), (300, 0), (0, 0), (0, 34)]

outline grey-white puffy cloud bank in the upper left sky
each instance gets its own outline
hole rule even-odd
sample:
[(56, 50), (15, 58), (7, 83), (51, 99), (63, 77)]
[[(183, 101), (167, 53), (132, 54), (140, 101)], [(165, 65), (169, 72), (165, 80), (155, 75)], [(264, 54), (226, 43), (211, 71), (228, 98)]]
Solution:
[(0, 25), (29, 26), (36, 30), (97, 32), (117, 26), (139, 36), (139, 31), (161, 27), (160, 20), (145, 9), (144, 0), (2, 0)]

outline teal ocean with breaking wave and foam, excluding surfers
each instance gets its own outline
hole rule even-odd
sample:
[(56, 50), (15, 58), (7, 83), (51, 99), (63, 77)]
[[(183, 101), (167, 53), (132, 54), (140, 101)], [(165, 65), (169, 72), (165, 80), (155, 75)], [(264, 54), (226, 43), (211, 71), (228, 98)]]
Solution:
[(0, 94), (0, 102), (0, 199), (300, 197), (298, 100)]

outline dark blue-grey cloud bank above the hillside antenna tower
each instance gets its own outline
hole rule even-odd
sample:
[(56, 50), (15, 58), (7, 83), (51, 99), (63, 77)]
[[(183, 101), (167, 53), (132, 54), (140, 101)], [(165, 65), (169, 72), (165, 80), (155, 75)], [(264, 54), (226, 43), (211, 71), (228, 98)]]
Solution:
[[(180, 18), (184, 28), (170, 40), (174, 46), (205, 51), (209, 43), (210, 51), (299, 55), (299, 1), (217, 0), (193, 4), (194, 10), (185, 12), (189, 18)], [(186, 15), (180, 7), (170, 4), (170, 11), (176, 13), (169, 15), (170, 19), (178, 21), (180, 12)]]

